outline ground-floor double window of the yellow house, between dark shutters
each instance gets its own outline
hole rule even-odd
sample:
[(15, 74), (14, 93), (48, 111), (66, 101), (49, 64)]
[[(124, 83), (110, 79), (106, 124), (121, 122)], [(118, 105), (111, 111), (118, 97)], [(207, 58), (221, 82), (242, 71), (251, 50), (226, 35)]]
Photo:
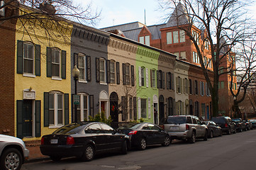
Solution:
[(49, 94), (49, 124), (63, 125), (63, 94), (60, 92), (51, 92)]

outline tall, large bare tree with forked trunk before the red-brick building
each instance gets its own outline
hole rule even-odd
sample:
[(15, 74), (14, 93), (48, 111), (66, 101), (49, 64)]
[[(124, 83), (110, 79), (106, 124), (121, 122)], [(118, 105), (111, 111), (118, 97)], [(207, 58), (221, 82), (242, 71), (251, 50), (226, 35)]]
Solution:
[[(184, 30), (191, 42), (194, 42), (201, 69), (211, 92), (213, 116), (218, 114), (218, 81), (221, 74), (228, 74), (232, 64), (224, 69), (220, 65), (233, 57), (238, 43), (250, 41), (255, 34), (255, 23), (247, 18), (247, 6), (253, 1), (242, 0), (169, 0), (160, 1), (160, 7), (171, 16), (177, 27)], [(206, 50), (209, 45), (209, 50)], [(205, 59), (210, 60), (206, 61)], [(209, 77), (208, 64), (213, 65), (213, 81)], [(223, 70), (221, 70), (223, 69)], [(224, 71), (220, 73), (221, 71)]]

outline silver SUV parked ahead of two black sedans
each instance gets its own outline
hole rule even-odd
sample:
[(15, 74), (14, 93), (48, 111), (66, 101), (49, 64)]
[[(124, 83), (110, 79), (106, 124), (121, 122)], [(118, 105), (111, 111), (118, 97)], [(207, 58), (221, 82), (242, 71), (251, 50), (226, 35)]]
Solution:
[(165, 120), (165, 131), (172, 140), (196, 142), (196, 138), (207, 140), (208, 128), (194, 115), (171, 115)]

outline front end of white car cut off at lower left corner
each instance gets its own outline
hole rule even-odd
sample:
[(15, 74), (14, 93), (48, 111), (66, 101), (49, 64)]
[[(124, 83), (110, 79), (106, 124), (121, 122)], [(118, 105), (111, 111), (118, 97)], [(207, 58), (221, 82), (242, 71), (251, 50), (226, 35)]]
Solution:
[(0, 169), (19, 170), (29, 151), (23, 140), (8, 135), (0, 135)]

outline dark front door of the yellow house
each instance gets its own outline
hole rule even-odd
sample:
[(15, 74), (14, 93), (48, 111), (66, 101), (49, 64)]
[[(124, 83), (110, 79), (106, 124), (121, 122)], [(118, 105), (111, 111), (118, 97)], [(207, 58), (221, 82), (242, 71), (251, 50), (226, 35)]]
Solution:
[(32, 136), (32, 103), (33, 100), (23, 100), (23, 136)]

